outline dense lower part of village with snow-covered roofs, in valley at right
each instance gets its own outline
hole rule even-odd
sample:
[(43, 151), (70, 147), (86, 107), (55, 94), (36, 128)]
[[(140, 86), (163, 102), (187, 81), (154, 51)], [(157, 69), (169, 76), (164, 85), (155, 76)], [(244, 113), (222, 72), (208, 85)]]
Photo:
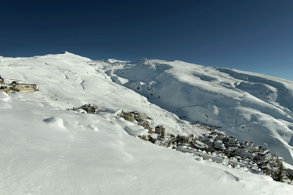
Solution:
[(201, 156), (204, 160), (220, 163), (228, 168), (260, 175), (273, 175), (279, 163), (282, 163), (286, 174), (293, 175), (293, 166), (285, 163), (282, 157), (272, 155), (268, 149), (255, 146), (253, 142), (239, 142), (235, 137), (217, 132), (207, 132), (198, 137), (197, 141), (183, 136), (186, 140), (183, 139), (183, 144), (177, 146), (176, 150), (193, 153), (194, 156)]

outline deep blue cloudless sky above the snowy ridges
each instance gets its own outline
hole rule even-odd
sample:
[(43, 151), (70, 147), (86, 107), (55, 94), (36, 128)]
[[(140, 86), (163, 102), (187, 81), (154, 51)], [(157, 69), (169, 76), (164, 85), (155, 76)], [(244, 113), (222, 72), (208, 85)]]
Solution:
[(7, 1), (0, 56), (181, 60), (293, 81), (293, 1)]

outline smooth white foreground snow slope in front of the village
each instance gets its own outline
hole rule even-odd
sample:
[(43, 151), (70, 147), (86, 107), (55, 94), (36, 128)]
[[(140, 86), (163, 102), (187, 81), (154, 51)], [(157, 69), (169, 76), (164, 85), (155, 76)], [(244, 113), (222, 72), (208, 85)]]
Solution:
[[(0, 92), (0, 194), (290, 194), (293, 187), (127, 132), (116, 110), (83, 114)], [(9, 100), (9, 101), (7, 101)], [(236, 190), (237, 189), (237, 190)]]

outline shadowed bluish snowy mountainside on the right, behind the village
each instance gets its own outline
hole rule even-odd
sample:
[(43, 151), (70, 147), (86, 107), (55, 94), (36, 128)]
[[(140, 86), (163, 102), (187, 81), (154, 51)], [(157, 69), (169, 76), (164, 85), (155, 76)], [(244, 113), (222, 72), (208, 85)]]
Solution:
[(184, 120), (220, 127), (293, 163), (293, 82), (161, 60), (129, 62), (107, 74)]

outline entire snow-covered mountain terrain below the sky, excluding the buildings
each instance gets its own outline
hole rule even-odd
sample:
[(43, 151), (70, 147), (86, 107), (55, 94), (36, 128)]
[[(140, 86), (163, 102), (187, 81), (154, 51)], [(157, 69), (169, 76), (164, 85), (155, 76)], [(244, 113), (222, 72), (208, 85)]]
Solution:
[[(6, 82), (39, 87), (0, 92), (0, 194), (292, 191), (269, 176), (138, 139), (146, 130), (116, 116), (121, 109), (138, 110), (153, 119), (152, 127), (165, 124), (167, 132), (182, 135), (205, 133), (189, 122), (218, 126), (291, 163), (292, 82), (181, 61), (91, 61), (68, 52), (0, 61)], [(65, 110), (85, 103), (100, 111)]]

